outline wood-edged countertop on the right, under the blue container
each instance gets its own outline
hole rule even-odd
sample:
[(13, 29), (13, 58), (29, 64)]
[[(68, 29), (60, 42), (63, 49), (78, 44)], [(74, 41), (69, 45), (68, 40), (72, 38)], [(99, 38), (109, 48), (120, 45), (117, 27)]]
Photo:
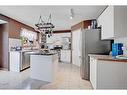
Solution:
[(88, 56), (94, 57), (97, 60), (102, 60), (102, 61), (127, 62), (127, 59), (117, 59), (117, 58), (113, 58), (111, 55), (88, 54)]

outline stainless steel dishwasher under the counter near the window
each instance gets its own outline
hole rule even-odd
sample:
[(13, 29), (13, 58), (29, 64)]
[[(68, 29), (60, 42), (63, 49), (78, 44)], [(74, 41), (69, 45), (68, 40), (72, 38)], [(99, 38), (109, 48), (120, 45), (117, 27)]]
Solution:
[(30, 67), (30, 54), (28, 52), (22, 52), (20, 70), (22, 71), (29, 67)]

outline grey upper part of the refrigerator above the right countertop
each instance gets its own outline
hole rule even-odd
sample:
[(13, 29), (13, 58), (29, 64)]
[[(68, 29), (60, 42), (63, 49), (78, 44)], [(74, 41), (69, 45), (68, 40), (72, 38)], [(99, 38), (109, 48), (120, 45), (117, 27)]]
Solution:
[(101, 32), (97, 29), (85, 31), (85, 55), (89, 53), (104, 54), (109, 53), (111, 48), (110, 41), (101, 40)]

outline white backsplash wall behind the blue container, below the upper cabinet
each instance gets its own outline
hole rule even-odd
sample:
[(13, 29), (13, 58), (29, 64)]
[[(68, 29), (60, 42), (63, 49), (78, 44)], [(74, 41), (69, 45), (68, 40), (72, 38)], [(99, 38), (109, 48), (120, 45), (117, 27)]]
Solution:
[(127, 55), (127, 37), (114, 39), (114, 43), (123, 43), (124, 46), (123, 54)]

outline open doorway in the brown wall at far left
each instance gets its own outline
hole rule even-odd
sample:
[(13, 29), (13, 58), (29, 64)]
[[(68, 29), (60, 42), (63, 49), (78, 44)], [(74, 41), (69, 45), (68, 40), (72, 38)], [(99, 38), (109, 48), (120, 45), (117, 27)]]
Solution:
[(0, 20), (0, 69), (8, 70), (8, 23)]

